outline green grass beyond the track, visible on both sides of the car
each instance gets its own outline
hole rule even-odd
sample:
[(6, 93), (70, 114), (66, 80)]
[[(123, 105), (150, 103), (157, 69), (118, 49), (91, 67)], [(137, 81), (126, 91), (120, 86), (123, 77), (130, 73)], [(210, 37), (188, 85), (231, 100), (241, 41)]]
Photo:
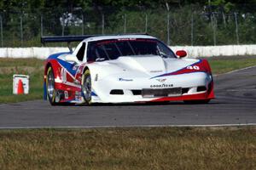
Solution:
[[(256, 65), (256, 58), (211, 58), (213, 74), (221, 74), (247, 66)], [(13, 75), (30, 76), (30, 93), (14, 95)], [(0, 59), (0, 103), (43, 99), (44, 60), (41, 59)]]

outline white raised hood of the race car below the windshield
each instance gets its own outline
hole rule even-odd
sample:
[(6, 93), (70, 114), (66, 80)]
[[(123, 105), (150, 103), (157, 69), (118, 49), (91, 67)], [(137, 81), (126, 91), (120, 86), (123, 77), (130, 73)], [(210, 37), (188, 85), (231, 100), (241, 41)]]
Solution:
[(97, 65), (108, 66), (108, 73), (110, 74), (120, 74), (122, 72), (125, 75), (131, 73), (136, 77), (155, 77), (178, 71), (197, 61), (198, 59), (165, 59), (158, 55), (133, 55), (97, 62)]

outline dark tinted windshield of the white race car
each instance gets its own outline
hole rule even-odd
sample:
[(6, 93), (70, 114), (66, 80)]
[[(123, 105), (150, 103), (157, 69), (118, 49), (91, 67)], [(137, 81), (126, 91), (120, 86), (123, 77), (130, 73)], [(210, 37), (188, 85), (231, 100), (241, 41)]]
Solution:
[(176, 58), (172, 50), (156, 39), (125, 38), (89, 42), (87, 61), (118, 59), (120, 56), (159, 55)]

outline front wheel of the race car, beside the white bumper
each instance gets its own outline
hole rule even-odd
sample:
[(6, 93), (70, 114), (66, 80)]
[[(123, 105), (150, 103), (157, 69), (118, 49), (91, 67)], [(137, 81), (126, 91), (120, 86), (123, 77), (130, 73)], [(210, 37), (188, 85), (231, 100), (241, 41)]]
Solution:
[(84, 71), (82, 77), (82, 94), (84, 97), (84, 101), (86, 104), (90, 104), (91, 101), (91, 78), (90, 78), (90, 71)]

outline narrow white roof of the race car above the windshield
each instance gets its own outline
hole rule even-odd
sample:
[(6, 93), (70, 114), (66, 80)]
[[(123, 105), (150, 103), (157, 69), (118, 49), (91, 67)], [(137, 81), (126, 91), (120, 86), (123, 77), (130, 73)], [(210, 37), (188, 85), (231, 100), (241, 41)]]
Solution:
[(83, 40), (83, 42), (94, 42), (100, 40), (108, 40), (108, 39), (123, 39), (123, 38), (149, 38), (156, 39), (156, 37), (148, 36), (148, 35), (111, 35), (111, 36), (96, 36), (96, 37), (88, 37)]

